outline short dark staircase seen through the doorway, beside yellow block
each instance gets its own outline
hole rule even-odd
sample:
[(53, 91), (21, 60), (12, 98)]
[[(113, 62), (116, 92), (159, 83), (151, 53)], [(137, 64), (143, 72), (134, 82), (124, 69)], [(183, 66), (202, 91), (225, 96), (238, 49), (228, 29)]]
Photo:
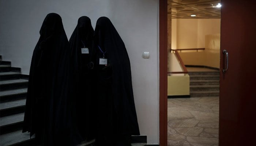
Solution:
[(219, 96), (219, 71), (189, 72), (190, 96)]

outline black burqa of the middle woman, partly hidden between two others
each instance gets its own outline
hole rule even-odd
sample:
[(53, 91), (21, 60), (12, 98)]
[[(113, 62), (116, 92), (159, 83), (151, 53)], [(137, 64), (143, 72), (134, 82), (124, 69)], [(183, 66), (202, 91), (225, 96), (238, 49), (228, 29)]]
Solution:
[[(69, 39), (75, 81), (74, 114), (83, 140), (95, 138), (95, 98), (91, 95), (94, 94), (94, 89), (91, 88), (94, 84), (94, 73), (91, 70), (93, 66), (90, 66), (93, 34), (90, 18), (82, 16)], [(89, 52), (82, 54), (83, 48), (88, 48)]]

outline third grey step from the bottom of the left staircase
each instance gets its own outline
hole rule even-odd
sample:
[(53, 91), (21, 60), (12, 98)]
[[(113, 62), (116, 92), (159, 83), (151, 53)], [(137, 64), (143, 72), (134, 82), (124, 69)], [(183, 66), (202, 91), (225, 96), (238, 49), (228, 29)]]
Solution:
[(25, 111), (26, 99), (0, 103), (0, 117), (19, 114)]

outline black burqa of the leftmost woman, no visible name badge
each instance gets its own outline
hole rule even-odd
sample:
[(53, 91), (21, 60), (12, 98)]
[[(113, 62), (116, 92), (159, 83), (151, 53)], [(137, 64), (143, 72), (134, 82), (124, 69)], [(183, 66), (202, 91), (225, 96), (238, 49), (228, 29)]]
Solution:
[[(60, 15), (50, 13), (33, 51), (22, 132), (38, 145), (76, 145), (72, 125), (70, 46)], [(78, 138), (78, 137), (77, 137)]]

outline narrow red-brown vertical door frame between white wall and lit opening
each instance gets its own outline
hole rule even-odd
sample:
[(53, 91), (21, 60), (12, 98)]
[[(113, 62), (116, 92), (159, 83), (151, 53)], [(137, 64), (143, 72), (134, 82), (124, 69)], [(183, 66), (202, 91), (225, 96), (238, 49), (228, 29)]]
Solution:
[(167, 146), (167, 0), (159, 0), (159, 145)]

